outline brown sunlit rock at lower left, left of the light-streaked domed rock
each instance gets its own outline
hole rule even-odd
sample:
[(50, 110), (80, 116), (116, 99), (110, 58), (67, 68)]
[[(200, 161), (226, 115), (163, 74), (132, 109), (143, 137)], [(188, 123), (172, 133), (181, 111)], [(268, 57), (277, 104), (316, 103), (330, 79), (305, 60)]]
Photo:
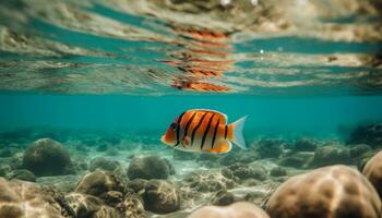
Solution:
[(126, 184), (112, 172), (96, 170), (84, 175), (75, 187), (75, 192), (91, 194), (103, 198), (109, 191), (124, 193)]

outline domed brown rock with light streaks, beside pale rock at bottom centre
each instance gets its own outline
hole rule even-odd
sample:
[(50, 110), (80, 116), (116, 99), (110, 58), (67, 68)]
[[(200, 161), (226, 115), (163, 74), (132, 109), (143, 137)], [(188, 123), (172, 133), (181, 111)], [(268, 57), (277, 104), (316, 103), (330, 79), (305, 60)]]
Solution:
[(166, 180), (150, 180), (145, 185), (144, 207), (157, 214), (167, 214), (180, 208), (177, 187)]

